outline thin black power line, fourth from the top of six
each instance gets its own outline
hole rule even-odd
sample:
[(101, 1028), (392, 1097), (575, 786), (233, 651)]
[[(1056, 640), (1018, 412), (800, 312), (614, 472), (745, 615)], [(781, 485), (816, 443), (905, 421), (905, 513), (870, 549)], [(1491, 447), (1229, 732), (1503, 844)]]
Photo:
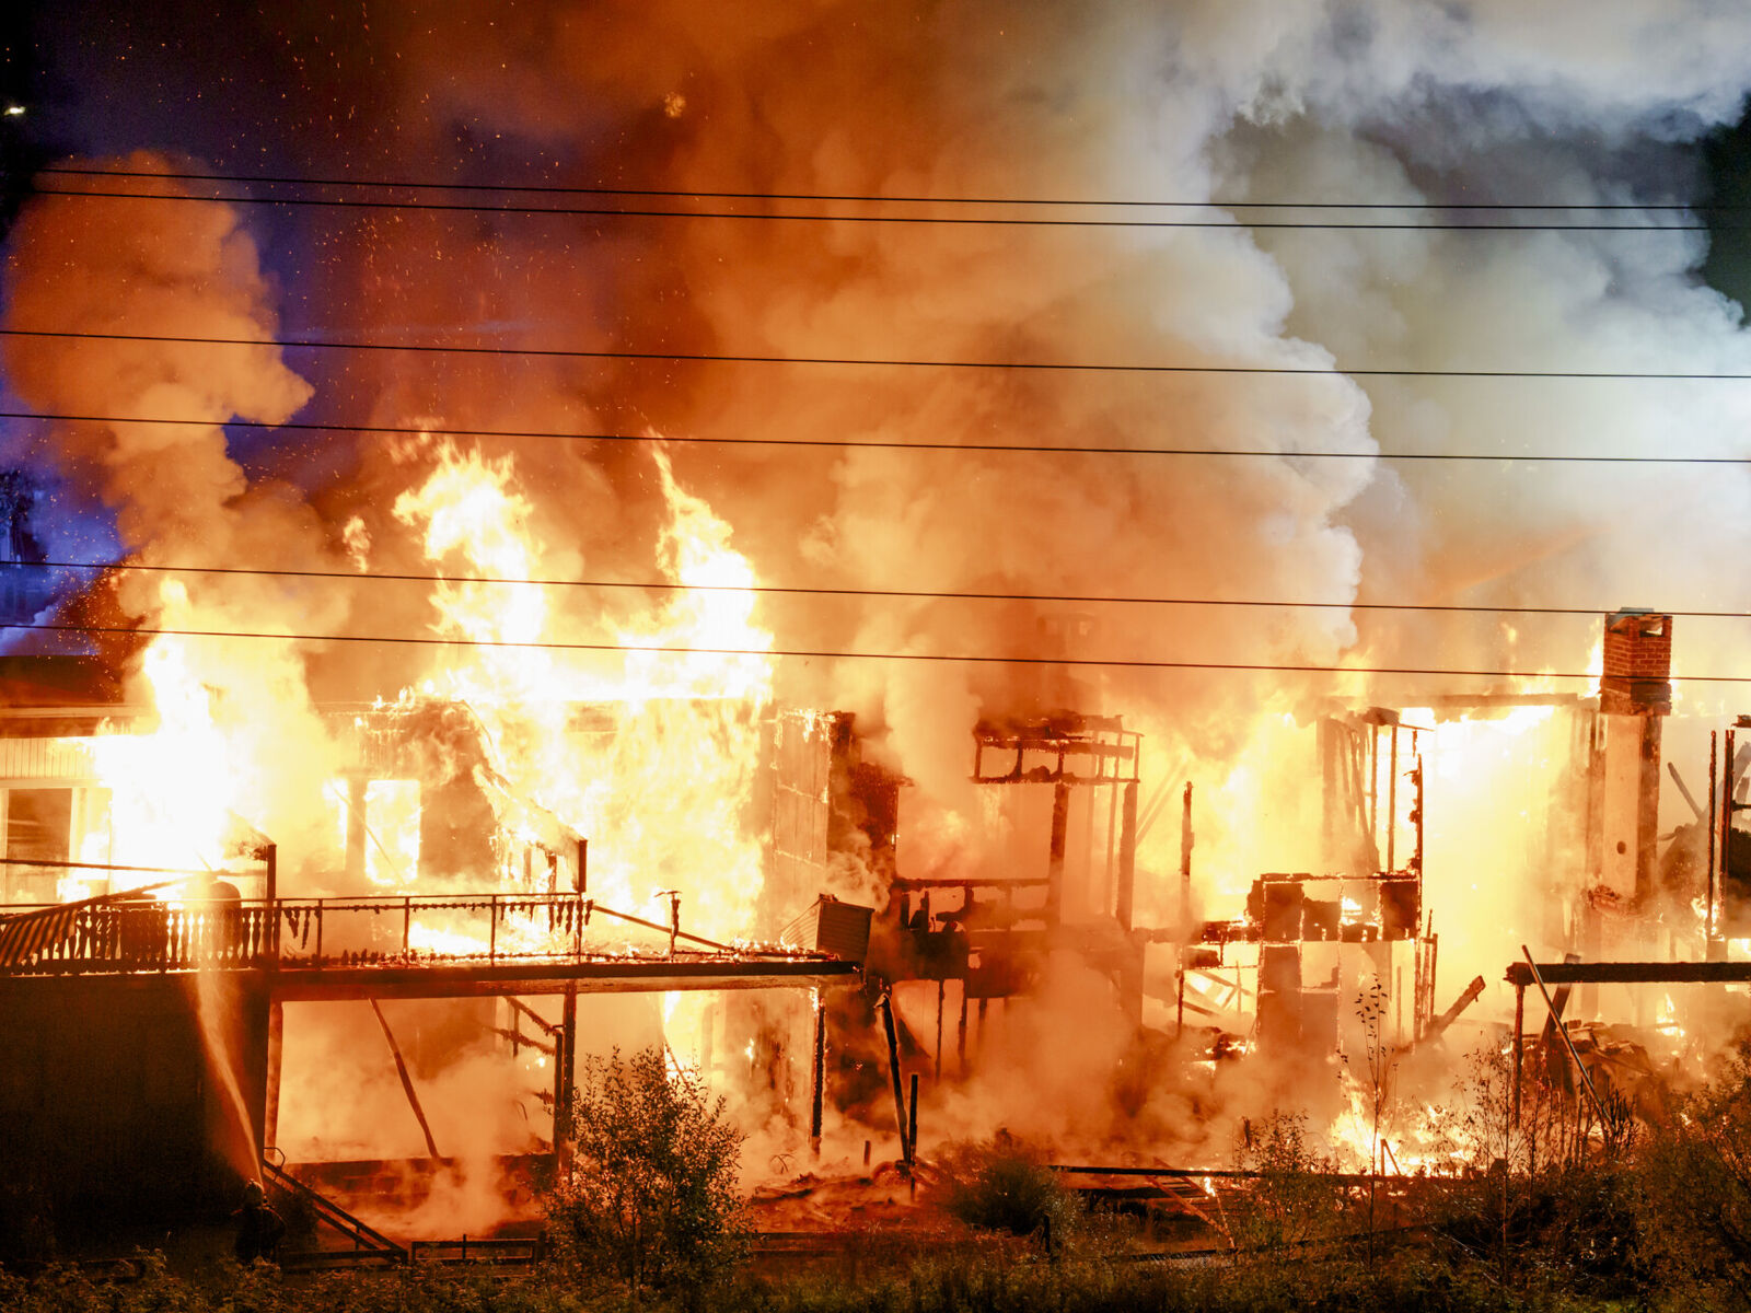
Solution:
[[(4, 333), (4, 329), (0, 329)], [(317, 424), (312, 420), (189, 420), (145, 415), (74, 415), (65, 411), (0, 410), (0, 420), (65, 424), (152, 424), (194, 429), (292, 429), (298, 432), (383, 434), (396, 438), (513, 438), (578, 443), (686, 443), (695, 446), (819, 446), (879, 452), (1021, 452), (1054, 455), (1177, 455), (1301, 460), (1502, 460), (1516, 464), (1742, 466), (1751, 455), (1593, 455), (1539, 452), (1341, 452), (1289, 446), (1061, 446), (1045, 443), (905, 443), (861, 438), (699, 438), (655, 432), (571, 432), (562, 429), (448, 429), (417, 424)]]

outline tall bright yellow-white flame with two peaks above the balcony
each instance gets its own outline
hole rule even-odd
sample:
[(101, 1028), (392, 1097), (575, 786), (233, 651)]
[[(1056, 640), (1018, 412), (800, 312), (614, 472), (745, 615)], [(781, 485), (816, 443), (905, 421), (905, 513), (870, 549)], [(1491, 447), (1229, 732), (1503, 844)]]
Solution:
[[(660, 450), (669, 511), (658, 564), (679, 585), (648, 613), (573, 616), (527, 583), (562, 574), (538, 541), (510, 459), (441, 448), (424, 485), (394, 515), (422, 532), (441, 579), (434, 632), (473, 644), (594, 644), (609, 651), (457, 646), (432, 690), (478, 718), (492, 769), (529, 804), (511, 818), (522, 842), (545, 823), (590, 839), (590, 891), (634, 905), (683, 889), (690, 928), (746, 930), (760, 889), (760, 847), (744, 811), (772, 697), (772, 635), (755, 625), (756, 576), (730, 529), (686, 492)], [(594, 723), (578, 720), (594, 709)], [(501, 800), (503, 802), (503, 800)], [(539, 816), (538, 816), (539, 812)], [(515, 870), (501, 874), (513, 884)]]

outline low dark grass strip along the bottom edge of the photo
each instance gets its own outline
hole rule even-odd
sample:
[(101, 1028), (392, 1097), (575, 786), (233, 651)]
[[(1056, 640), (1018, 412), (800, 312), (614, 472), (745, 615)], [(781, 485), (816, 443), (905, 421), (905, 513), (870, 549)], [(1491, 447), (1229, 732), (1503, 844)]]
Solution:
[(853, 1246), (807, 1271), (742, 1271), (685, 1292), (634, 1294), (625, 1283), (564, 1264), (492, 1273), (417, 1266), (389, 1273), (296, 1276), (273, 1267), (215, 1264), (173, 1273), (142, 1255), (124, 1274), (49, 1267), (23, 1278), (0, 1271), (9, 1313), (1604, 1313), (1620, 1308), (1709, 1306), (1697, 1299), (1586, 1292), (1562, 1266), (1495, 1262), (1432, 1239), (1401, 1243), (1375, 1262), (1361, 1250), (1292, 1260), (1241, 1253), (1212, 1266), (1136, 1262), (965, 1234), (881, 1255)]

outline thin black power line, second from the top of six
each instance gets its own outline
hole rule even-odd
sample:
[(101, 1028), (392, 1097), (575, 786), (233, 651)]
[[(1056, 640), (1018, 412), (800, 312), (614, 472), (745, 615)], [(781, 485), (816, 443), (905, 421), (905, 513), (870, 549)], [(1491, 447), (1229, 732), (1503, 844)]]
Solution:
[[(1382, 231), (1382, 233), (1705, 233), (1705, 222), (1672, 224), (1527, 224), (1527, 222), (1338, 222), (1285, 219), (1038, 219), (1019, 215), (942, 214), (772, 214), (765, 210), (634, 210), (623, 205), (468, 205), (457, 201), (378, 201), (343, 196), (189, 196), (144, 191), (61, 191), (32, 187), (37, 196), (79, 196), (112, 201), (198, 201), (205, 205), (299, 205), (331, 210), (436, 210), (448, 214), (555, 215), (569, 219), (744, 219), (800, 224), (918, 224), (958, 228), (1161, 228), (1161, 229), (1269, 229), (1269, 231)], [(1213, 208), (1213, 207), (1212, 207)], [(1739, 231), (1739, 229), (1728, 229)]]

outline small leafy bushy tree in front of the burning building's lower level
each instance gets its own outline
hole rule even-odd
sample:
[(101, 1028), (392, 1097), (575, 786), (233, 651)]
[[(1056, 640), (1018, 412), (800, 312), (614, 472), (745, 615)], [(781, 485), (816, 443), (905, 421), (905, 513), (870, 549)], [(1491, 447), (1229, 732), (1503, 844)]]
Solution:
[(735, 1169), (742, 1136), (697, 1070), (664, 1049), (592, 1057), (573, 1098), (571, 1171), (548, 1194), (562, 1255), (641, 1285), (676, 1287), (746, 1248)]

